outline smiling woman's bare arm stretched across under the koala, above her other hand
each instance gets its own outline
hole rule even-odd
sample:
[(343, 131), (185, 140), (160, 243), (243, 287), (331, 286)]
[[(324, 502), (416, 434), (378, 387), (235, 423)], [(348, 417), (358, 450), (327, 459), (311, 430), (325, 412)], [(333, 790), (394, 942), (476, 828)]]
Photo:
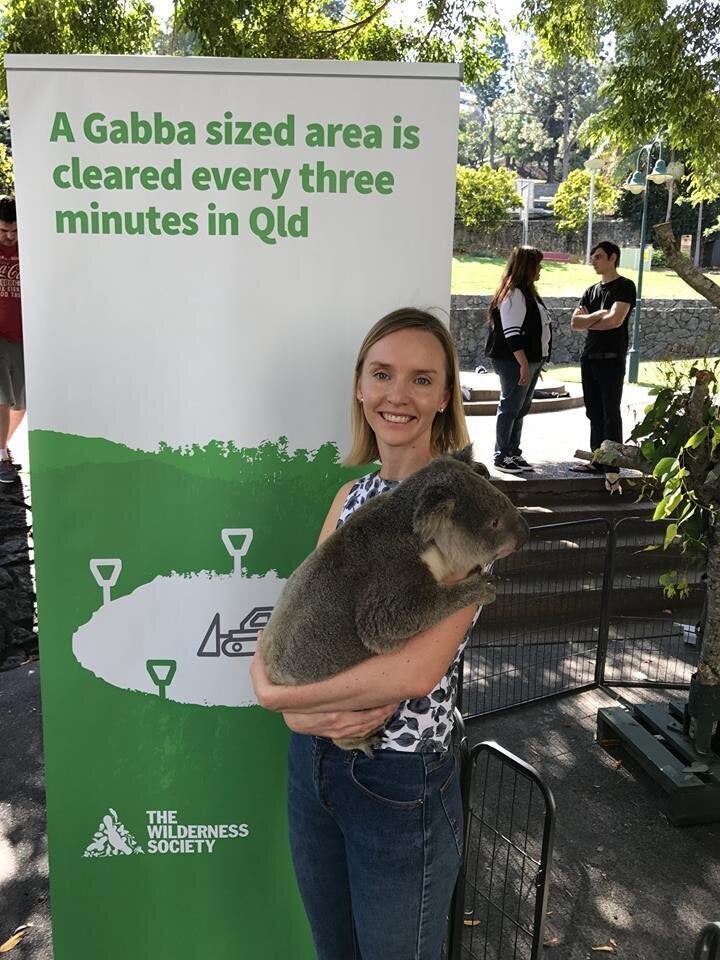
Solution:
[(465, 607), (423, 630), (394, 653), (370, 657), (329, 680), (298, 686), (269, 682), (257, 655), (250, 668), (255, 693), (268, 710), (327, 713), (367, 710), (423, 697), (447, 672), (477, 607)]

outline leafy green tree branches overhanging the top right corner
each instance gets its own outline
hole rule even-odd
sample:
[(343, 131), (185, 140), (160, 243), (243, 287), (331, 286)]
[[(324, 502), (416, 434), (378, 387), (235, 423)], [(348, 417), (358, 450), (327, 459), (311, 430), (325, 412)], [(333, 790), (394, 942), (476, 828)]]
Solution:
[(664, 133), (686, 155), (693, 202), (720, 194), (720, 0), (524, 0), (523, 16), (559, 61), (599, 57), (612, 33), (591, 143), (625, 153)]

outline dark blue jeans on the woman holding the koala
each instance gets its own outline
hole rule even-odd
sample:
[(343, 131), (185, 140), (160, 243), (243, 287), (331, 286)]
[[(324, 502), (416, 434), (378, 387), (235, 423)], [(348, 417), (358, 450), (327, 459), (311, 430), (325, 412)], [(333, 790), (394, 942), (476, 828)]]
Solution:
[(288, 816), (318, 960), (440, 960), (461, 863), (452, 753), (293, 734)]

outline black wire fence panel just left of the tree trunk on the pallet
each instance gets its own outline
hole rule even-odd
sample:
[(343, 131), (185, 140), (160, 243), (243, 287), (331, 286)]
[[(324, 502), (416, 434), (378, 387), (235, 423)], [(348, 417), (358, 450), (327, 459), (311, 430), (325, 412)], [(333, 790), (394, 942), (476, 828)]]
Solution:
[[(609, 686), (687, 687), (702, 639), (705, 557), (663, 550), (665, 524), (625, 518), (615, 526), (607, 647), (600, 682)], [(654, 547), (655, 549), (648, 549)], [(687, 595), (666, 596), (673, 570)]]

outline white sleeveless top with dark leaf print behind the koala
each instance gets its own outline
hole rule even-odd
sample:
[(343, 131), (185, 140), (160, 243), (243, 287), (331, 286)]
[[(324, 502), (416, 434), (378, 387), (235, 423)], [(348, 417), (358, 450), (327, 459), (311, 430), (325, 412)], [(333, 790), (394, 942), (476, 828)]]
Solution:
[[(341, 526), (353, 511), (379, 493), (392, 490), (397, 480), (383, 480), (379, 472), (369, 473), (356, 481), (340, 512)], [(478, 610), (478, 614), (479, 614)], [(475, 615), (473, 624), (478, 617)], [(472, 624), (470, 626), (472, 629)], [(404, 700), (385, 724), (385, 733), (378, 750), (400, 750), (405, 753), (435, 753), (450, 749), (453, 710), (457, 699), (458, 665), (470, 631), (458, 647), (447, 673), (428, 696)]]

